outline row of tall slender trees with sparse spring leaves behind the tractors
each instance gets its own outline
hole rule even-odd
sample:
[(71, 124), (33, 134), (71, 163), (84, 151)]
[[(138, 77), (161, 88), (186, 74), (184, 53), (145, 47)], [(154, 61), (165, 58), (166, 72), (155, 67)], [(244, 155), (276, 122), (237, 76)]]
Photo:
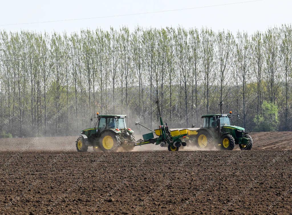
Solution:
[[(67, 136), (100, 114), (172, 128), (232, 110), (246, 131), (291, 131), (291, 25), (265, 32), (123, 26), (0, 32), (2, 136)], [(9, 136), (9, 135), (8, 135)]]

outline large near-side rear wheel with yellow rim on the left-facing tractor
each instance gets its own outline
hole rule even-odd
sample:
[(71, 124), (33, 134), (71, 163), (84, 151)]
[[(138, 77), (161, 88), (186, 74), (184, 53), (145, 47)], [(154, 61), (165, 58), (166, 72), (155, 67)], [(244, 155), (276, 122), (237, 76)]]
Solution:
[(115, 152), (119, 149), (121, 140), (119, 134), (112, 131), (105, 131), (99, 139), (99, 148), (103, 152)]

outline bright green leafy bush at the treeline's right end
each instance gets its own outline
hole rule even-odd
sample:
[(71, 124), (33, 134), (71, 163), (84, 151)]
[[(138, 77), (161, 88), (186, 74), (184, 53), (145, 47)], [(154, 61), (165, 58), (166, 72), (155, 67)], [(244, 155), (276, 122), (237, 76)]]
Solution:
[(279, 128), (279, 110), (277, 105), (263, 101), (262, 114), (256, 115), (253, 122), (256, 124), (255, 131), (277, 131)]

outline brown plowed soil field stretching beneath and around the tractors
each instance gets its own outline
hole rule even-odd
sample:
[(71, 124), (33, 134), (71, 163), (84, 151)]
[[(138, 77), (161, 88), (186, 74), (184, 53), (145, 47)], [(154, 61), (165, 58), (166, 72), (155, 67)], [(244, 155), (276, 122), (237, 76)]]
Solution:
[(291, 214), (292, 132), (250, 151), (76, 152), (76, 137), (0, 139), (0, 214)]

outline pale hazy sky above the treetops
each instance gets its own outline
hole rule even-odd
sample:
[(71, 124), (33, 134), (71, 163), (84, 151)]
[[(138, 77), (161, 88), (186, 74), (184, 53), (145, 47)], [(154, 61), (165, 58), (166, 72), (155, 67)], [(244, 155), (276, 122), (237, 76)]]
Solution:
[(74, 20), (64, 22), (37, 23), (24, 25), (6, 25), (26, 22), (43, 22), (66, 19), (82, 19), (100, 16), (124, 15), (152, 11), (174, 10), (181, 8), (203, 7), (218, 4), (244, 2), (248, 0), (150, 0), (150, 1), (89, 1), (89, 0), (27, 0), (1, 1), (0, 29), (7, 31), (32, 30), (37, 32), (73, 32), (81, 28), (108, 30), (110, 26), (118, 29), (127, 25), (130, 30), (142, 27), (177, 27), (185, 28), (206, 26), (213, 30), (228, 29), (253, 33), (264, 31), (267, 27), (290, 24), (292, 1), (263, 0), (243, 4), (197, 8), (122, 17)]

